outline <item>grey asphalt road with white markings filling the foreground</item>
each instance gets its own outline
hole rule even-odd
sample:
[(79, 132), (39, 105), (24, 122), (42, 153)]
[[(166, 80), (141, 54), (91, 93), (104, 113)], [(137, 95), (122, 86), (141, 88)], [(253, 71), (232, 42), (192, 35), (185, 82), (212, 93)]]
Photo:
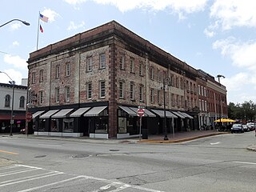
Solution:
[(254, 132), (180, 144), (0, 138), (0, 191), (255, 191)]

